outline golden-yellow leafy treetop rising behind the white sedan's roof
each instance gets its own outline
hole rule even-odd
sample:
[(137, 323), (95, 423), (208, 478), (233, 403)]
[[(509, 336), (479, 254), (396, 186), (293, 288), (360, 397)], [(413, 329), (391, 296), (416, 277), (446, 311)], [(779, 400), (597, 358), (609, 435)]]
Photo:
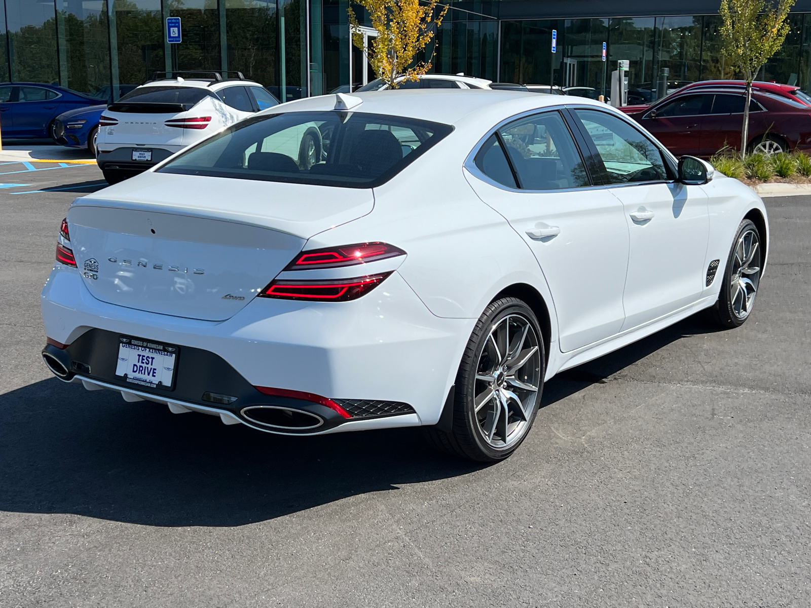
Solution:
[[(434, 19), (436, 0), (420, 5), (419, 0), (358, 0), (371, 17), (377, 30), (369, 51), (369, 63), (375, 75), (389, 88), (397, 88), (397, 79), (416, 80), (431, 69), (431, 61), (414, 62), (414, 57), (434, 37), (434, 26), (440, 27), (448, 6)], [(352, 42), (363, 49), (363, 35), (358, 32), (358, 18), (350, 7)]]

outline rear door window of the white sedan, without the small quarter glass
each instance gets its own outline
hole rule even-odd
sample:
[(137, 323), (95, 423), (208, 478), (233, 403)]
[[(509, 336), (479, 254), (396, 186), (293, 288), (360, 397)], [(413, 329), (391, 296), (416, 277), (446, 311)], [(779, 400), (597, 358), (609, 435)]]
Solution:
[(521, 188), (560, 190), (589, 185), (580, 153), (560, 113), (521, 118), (502, 127), (499, 134)]

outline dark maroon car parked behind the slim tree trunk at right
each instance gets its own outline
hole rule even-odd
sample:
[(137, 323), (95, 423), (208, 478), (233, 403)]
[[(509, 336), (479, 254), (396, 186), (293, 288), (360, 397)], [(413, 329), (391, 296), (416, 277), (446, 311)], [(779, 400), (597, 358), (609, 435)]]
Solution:
[[(744, 119), (744, 88), (695, 83), (649, 106), (623, 108), (676, 156), (712, 156), (724, 146), (740, 150)], [(749, 106), (749, 152), (811, 149), (811, 107), (786, 87), (757, 83)], [(764, 88), (761, 85), (769, 85)], [(794, 90), (796, 88), (792, 88)]]

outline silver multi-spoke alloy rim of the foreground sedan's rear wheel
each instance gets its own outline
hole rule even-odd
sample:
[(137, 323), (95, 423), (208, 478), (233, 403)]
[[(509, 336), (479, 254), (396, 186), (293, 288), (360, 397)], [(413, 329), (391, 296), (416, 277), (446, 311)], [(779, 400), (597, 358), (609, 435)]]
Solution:
[(496, 448), (515, 443), (529, 429), (539, 396), (538, 335), (523, 315), (496, 322), (478, 358), (475, 418), (483, 439)]

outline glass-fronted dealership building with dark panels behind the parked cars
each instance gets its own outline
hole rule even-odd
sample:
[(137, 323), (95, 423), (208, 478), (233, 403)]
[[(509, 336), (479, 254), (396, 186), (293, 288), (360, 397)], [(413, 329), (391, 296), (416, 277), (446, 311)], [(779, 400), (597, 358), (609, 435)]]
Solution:
[[(371, 77), (350, 43), (349, 7), (346, 0), (4, 0), (0, 79), (118, 96), (118, 85), (157, 71), (229, 70), (287, 100), (348, 90)], [(438, 73), (605, 93), (619, 60), (629, 62), (631, 90), (650, 91), (665, 73), (676, 84), (730, 78), (718, 7), (719, 0), (452, 2), (427, 56)], [(178, 44), (167, 41), (169, 17), (181, 18)], [(811, 0), (798, 0), (789, 22), (783, 49), (758, 79), (808, 91)], [(363, 32), (371, 41), (374, 32)]]

